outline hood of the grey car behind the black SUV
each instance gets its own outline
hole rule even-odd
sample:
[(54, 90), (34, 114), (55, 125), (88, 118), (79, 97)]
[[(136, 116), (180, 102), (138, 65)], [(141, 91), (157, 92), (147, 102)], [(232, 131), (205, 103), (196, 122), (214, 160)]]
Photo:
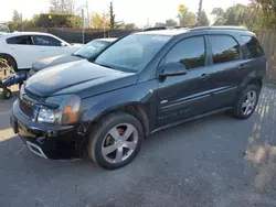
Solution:
[(83, 59), (82, 57), (73, 56), (73, 55), (59, 55), (54, 57), (49, 57), (41, 59), (39, 62), (35, 62), (32, 66), (32, 69), (34, 72), (39, 72), (41, 69), (45, 69), (47, 67), (52, 67), (55, 65), (64, 64), (64, 63), (70, 63), (74, 61), (81, 61)]

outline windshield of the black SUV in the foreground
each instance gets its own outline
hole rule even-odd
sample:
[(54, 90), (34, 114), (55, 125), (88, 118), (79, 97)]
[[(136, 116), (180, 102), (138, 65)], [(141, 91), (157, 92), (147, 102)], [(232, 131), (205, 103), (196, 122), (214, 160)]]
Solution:
[(138, 72), (139, 66), (148, 64), (170, 39), (164, 35), (131, 34), (108, 47), (95, 63), (115, 69)]

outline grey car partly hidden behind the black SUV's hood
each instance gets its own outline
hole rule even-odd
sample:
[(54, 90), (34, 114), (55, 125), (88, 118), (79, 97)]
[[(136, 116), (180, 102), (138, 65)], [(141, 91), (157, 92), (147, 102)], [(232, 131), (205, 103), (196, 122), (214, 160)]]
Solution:
[(31, 70), (28, 74), (28, 77), (33, 76), (39, 70), (45, 69), (47, 67), (53, 67), (55, 65), (70, 63), (74, 61), (81, 61), (84, 58), (94, 58), (96, 55), (98, 55), (103, 50), (105, 50), (108, 45), (110, 45), (116, 39), (97, 39), (93, 40), (83, 47), (81, 47), (75, 53), (68, 54), (68, 55), (59, 55), (54, 57), (49, 57), (45, 59), (41, 59), (39, 62), (35, 62), (32, 65)]

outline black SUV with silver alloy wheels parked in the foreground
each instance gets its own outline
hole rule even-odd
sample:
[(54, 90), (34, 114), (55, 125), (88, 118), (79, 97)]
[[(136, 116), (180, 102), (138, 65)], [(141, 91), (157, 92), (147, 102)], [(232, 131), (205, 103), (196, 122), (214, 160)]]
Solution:
[(251, 117), (266, 62), (255, 35), (242, 28), (138, 32), (94, 59), (31, 77), (11, 124), (38, 155), (87, 152), (102, 167), (117, 168), (159, 130), (226, 110)]

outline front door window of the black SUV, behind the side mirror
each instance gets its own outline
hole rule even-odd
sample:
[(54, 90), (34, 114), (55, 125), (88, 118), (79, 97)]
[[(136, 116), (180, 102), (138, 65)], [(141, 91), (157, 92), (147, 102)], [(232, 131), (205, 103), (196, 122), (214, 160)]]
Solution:
[(185, 66), (187, 69), (202, 67), (205, 65), (205, 43), (203, 36), (185, 39), (167, 55), (167, 63), (177, 62)]

